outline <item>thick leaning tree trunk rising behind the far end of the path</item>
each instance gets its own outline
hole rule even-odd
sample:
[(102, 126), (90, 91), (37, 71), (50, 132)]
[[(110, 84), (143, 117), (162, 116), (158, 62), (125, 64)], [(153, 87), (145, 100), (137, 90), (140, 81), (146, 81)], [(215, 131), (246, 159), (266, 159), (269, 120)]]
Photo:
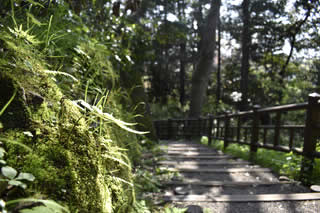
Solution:
[(200, 31), (199, 61), (192, 75), (190, 117), (199, 117), (205, 99), (209, 74), (213, 69), (216, 47), (216, 29), (219, 17), (220, 0), (212, 0), (206, 23)]

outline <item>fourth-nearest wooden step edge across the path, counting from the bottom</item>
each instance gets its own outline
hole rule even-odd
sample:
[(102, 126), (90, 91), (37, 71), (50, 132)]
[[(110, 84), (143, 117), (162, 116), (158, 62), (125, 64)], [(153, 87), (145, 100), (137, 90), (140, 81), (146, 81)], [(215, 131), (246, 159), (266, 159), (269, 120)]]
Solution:
[(248, 161), (159, 161), (159, 165), (215, 165), (215, 166), (223, 166), (223, 165), (251, 165)]

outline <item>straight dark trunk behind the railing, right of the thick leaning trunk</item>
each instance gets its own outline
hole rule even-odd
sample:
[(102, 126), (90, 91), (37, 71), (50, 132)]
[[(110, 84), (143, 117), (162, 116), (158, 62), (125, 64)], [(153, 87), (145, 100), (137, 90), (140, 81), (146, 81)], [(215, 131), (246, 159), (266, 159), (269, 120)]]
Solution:
[(242, 31), (242, 58), (241, 58), (241, 80), (240, 92), (241, 102), (239, 109), (248, 109), (248, 82), (249, 82), (249, 58), (250, 58), (250, 13), (249, 13), (250, 0), (243, 0), (242, 2), (242, 15), (243, 15), (243, 31)]

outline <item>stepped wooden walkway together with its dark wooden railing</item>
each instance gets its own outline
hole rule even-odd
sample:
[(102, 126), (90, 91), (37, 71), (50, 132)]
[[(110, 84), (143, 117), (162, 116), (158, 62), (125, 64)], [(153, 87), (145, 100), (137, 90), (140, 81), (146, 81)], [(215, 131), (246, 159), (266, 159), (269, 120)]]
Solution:
[[(250, 206), (252, 202), (286, 202), (279, 205), (289, 205), (288, 202), (303, 201), (301, 205), (308, 206), (312, 210), (309, 212), (319, 212), (320, 193), (312, 192), (300, 182), (282, 179), (268, 168), (187, 140), (205, 135), (209, 144), (213, 139), (223, 140), (225, 148), (230, 143), (246, 144), (252, 155), (259, 148), (292, 151), (303, 156), (301, 180), (307, 184), (314, 159), (320, 157), (316, 150), (320, 136), (319, 100), (319, 95), (311, 94), (308, 102), (302, 104), (255, 106), (251, 111), (234, 114), (155, 121), (158, 137), (166, 150), (166, 160), (159, 164), (181, 174), (180, 178), (166, 183), (171, 188), (164, 199), (185, 204), (202, 202), (214, 209), (221, 207), (216, 206), (217, 202), (240, 202), (242, 207), (239, 208), (244, 208), (243, 205)], [(296, 120), (303, 120), (303, 123), (293, 123)], [(185, 139), (178, 141), (181, 138)], [(310, 203), (310, 200), (316, 201)], [(252, 212), (256, 210), (253, 208)]]

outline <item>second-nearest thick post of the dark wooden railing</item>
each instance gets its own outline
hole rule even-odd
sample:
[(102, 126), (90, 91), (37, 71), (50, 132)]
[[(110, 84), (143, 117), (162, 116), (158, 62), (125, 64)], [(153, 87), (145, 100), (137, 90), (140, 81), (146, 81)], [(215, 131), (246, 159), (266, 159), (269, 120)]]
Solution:
[(253, 106), (253, 121), (252, 121), (252, 128), (251, 128), (251, 144), (250, 144), (250, 158), (252, 159), (257, 150), (257, 143), (259, 140), (259, 112), (260, 109), (259, 105)]

